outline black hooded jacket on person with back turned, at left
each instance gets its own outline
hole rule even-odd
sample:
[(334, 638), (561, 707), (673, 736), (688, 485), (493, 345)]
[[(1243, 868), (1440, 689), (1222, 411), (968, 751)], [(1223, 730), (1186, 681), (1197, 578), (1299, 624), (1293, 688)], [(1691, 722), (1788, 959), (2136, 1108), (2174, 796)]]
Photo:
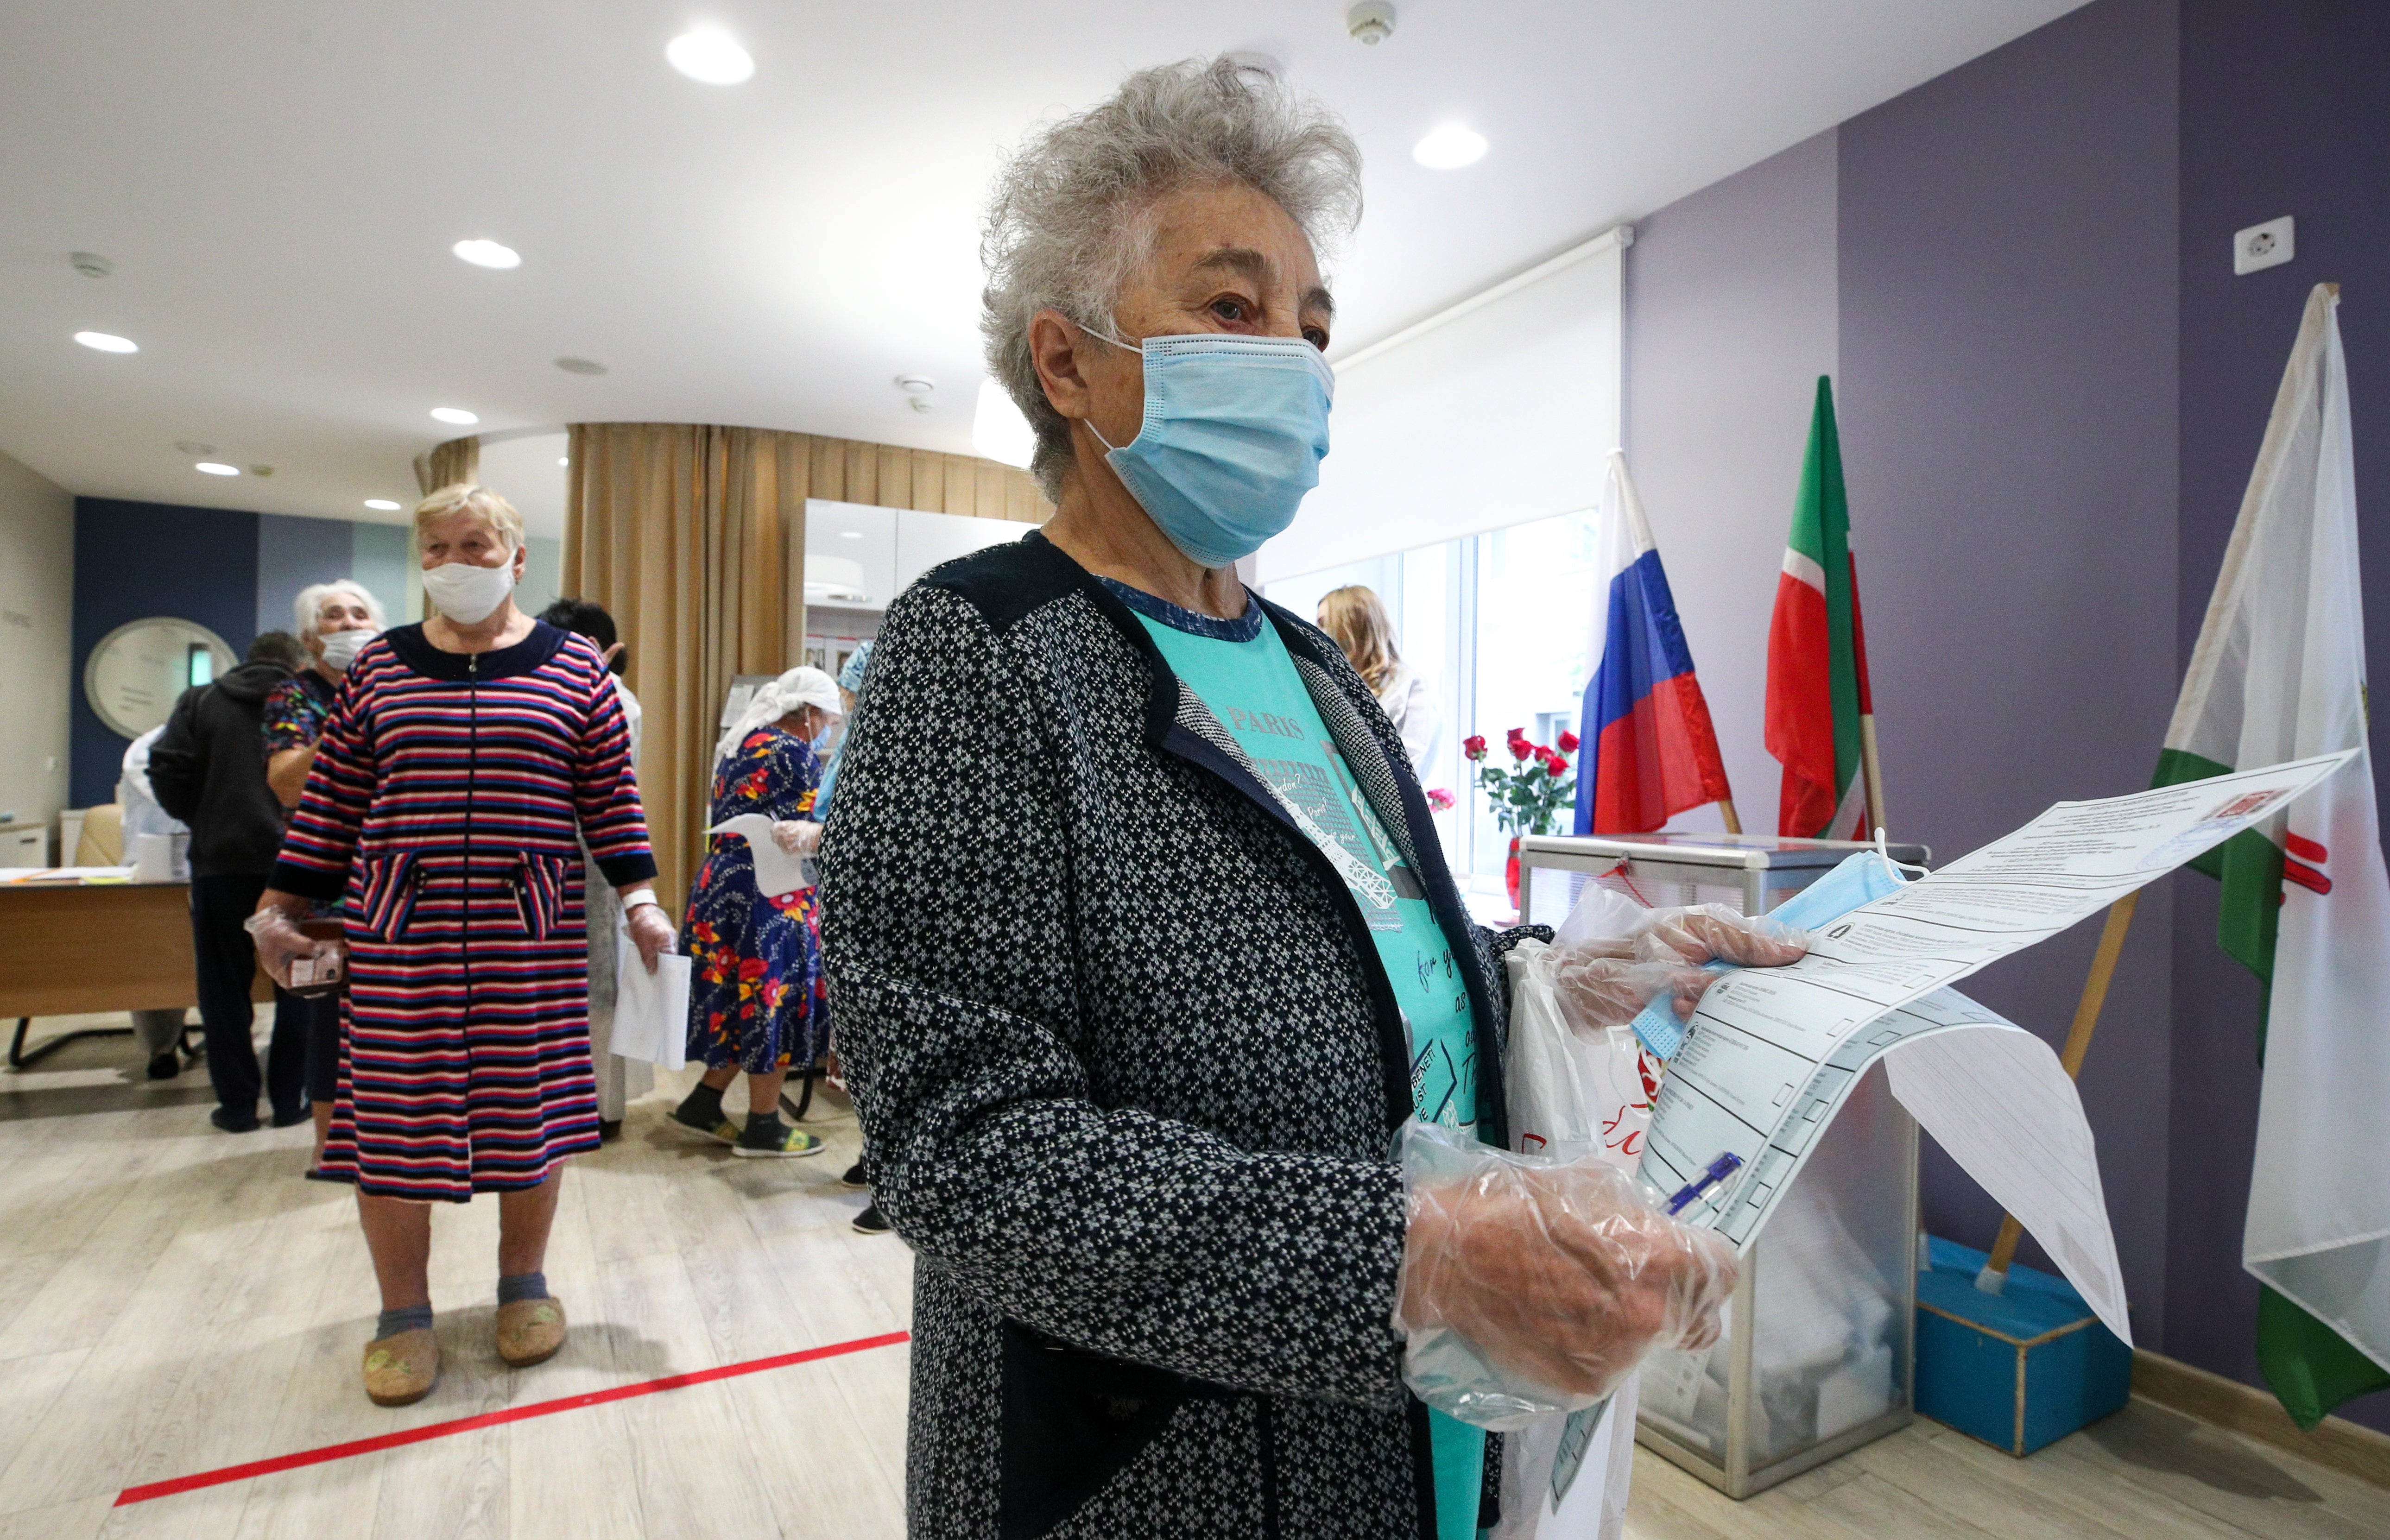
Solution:
[(263, 878), (282, 849), (282, 803), (265, 784), (265, 693), (289, 679), (277, 662), (244, 662), (186, 689), (151, 744), (158, 806), (191, 825), (194, 878)]

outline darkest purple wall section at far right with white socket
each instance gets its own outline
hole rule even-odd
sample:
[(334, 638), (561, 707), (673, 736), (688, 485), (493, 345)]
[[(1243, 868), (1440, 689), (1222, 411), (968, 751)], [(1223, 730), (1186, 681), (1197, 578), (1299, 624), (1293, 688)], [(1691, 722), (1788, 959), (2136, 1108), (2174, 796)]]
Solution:
[[(2337, 280), (2357, 426), (2368, 672), (2390, 677), (2390, 7), (2182, 5), (2182, 555), (2189, 660), (2306, 292)], [(2297, 215), (2297, 258), (2232, 275), (2232, 232)], [(2376, 763), (2383, 744), (2376, 741)], [(2383, 789), (2378, 784), (2378, 789)], [(2390, 811), (2390, 808), (2385, 808)], [(2216, 885), (2177, 878), (2165, 1351), (2256, 1382), (2242, 1210), (2256, 1145), (2259, 985), (2216, 949)], [(2390, 1179), (2390, 1177), (2385, 1177)], [(2390, 1394), (2340, 1416), (2390, 1432)]]

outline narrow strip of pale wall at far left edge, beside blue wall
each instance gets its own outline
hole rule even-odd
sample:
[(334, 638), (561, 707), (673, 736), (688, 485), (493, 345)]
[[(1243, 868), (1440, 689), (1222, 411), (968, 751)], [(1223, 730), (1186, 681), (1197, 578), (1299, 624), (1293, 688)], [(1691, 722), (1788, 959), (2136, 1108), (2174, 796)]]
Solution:
[(17, 825), (67, 806), (72, 624), (74, 497), (0, 454), (0, 813)]

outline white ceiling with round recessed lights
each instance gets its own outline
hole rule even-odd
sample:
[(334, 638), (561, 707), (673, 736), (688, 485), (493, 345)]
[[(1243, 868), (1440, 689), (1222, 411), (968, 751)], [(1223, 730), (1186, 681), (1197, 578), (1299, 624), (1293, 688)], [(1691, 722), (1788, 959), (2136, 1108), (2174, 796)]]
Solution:
[[(1130, 67), (1257, 50), (1348, 117), (1350, 352), (2077, 2), (1398, 0), (1362, 48), (1341, 0), (10, 0), (0, 450), (88, 495), (358, 519), (411, 502), (456, 433), (433, 407), (968, 450), (987, 177)], [(691, 22), (755, 79), (674, 74)], [(1491, 153), (1415, 165), (1453, 120)], [(468, 268), (464, 237), (523, 265)], [(896, 373), (937, 380), (932, 414)], [(275, 473), (198, 476), (174, 440)]]

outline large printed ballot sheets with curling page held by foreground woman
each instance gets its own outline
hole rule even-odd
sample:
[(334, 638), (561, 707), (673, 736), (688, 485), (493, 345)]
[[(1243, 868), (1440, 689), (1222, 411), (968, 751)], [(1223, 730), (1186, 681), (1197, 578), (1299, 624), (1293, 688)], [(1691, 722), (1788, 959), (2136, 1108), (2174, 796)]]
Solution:
[(2132, 1342), (2075, 1083), (2046, 1043), (1950, 985), (2278, 818), (2352, 758), (2063, 801), (1812, 933), (1804, 959), (1721, 978), (1668, 1064), (1642, 1179), (1678, 1193), (1721, 1153), (1738, 1155), (1740, 1169), (1680, 1217), (1747, 1251), (1850, 1088), (1890, 1055), (1902, 1105)]

